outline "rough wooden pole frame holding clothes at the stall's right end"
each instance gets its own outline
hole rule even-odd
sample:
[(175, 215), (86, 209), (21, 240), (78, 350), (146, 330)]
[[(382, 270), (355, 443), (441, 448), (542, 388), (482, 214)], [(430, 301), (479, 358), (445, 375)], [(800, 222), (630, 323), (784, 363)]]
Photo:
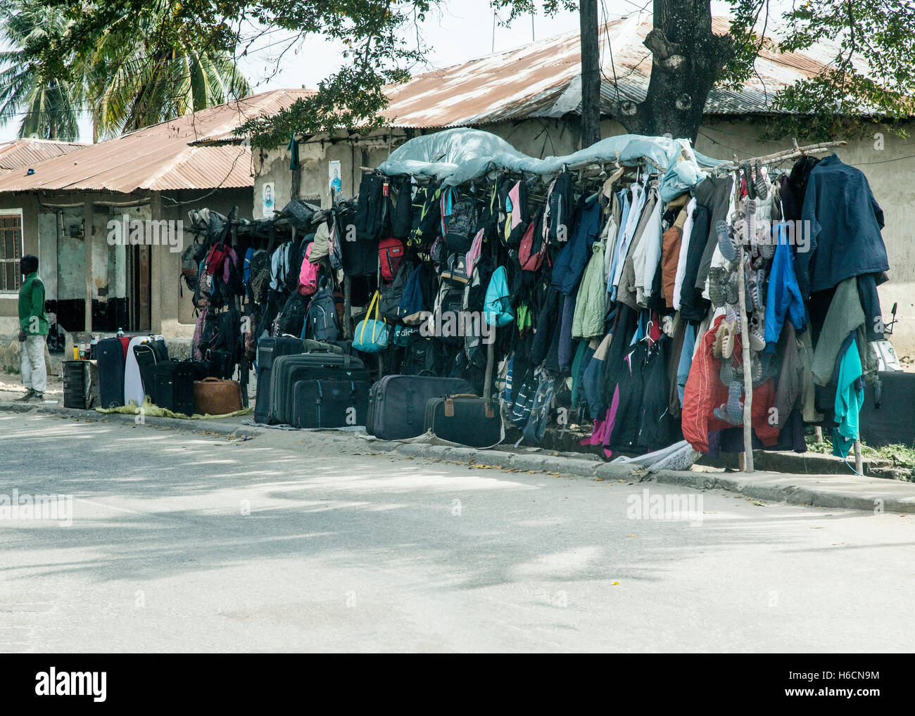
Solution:
[[(834, 147), (845, 146), (847, 142), (820, 142), (819, 144), (807, 144), (806, 146), (798, 146), (796, 139), (791, 139), (791, 144), (793, 148), (785, 150), (783, 152), (776, 152), (771, 155), (757, 156), (752, 159), (747, 159), (743, 162), (737, 160), (737, 155), (734, 155), (734, 161), (728, 162), (727, 164), (718, 165), (715, 167), (715, 171), (727, 171), (727, 172), (736, 172), (741, 166), (746, 164), (756, 164), (757, 161), (764, 165), (777, 164), (780, 162), (789, 162), (793, 159), (797, 159), (801, 156), (820, 154), (822, 152), (827, 152)], [(740, 184), (739, 182), (734, 182), (734, 198), (735, 202), (740, 199)], [(743, 374), (744, 374), (744, 410), (743, 410), (743, 433), (744, 433), (744, 452), (743, 460), (741, 460), (741, 465), (743, 466), (744, 472), (751, 473), (753, 472), (753, 425), (752, 425), (752, 411), (753, 411), (753, 376), (752, 370), (750, 369), (750, 357), (749, 357), (749, 321), (747, 318), (747, 298), (745, 292), (745, 281), (746, 276), (744, 275), (743, 270), (744, 265), (744, 248), (743, 243), (740, 243), (739, 249), (737, 250), (737, 305), (740, 310), (740, 350), (741, 356), (743, 358)], [(861, 441), (858, 439), (855, 443), (855, 466), (856, 472), (861, 473)]]

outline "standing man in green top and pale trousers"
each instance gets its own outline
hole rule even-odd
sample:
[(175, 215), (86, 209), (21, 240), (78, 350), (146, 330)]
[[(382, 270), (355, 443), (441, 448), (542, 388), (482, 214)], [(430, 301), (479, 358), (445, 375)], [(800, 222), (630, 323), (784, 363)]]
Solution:
[(25, 275), (19, 289), (20, 367), (26, 394), (21, 402), (42, 401), (48, 386), (45, 368), (45, 338), (48, 336), (48, 314), (45, 313), (45, 284), (38, 278), (38, 256), (26, 254), (19, 261)]

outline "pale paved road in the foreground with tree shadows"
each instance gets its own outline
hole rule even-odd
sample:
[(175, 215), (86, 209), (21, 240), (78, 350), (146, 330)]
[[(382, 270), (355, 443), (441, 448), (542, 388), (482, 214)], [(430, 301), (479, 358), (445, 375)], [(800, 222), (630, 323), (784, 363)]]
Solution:
[[(903, 651), (915, 518), (0, 413), (5, 651)], [(692, 493), (698, 497), (699, 493)], [(2, 504), (2, 500), (0, 500)], [(651, 514), (651, 513), (650, 513)], [(695, 515), (693, 516), (696, 517)]]

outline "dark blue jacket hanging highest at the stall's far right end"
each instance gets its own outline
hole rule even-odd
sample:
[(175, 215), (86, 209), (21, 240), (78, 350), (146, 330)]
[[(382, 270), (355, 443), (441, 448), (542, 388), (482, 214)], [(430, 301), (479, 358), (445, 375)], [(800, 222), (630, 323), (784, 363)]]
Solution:
[(801, 218), (809, 221), (809, 251), (795, 261), (803, 297), (833, 288), (851, 276), (889, 269), (880, 236), (883, 210), (860, 169), (830, 155), (813, 167)]

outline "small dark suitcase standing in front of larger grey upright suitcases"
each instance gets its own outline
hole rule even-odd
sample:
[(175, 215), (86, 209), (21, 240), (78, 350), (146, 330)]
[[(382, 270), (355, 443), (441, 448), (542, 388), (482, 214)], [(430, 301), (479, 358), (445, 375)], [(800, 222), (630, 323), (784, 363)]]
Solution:
[(370, 380), (297, 380), (290, 424), (296, 428), (364, 425), (370, 388)]

